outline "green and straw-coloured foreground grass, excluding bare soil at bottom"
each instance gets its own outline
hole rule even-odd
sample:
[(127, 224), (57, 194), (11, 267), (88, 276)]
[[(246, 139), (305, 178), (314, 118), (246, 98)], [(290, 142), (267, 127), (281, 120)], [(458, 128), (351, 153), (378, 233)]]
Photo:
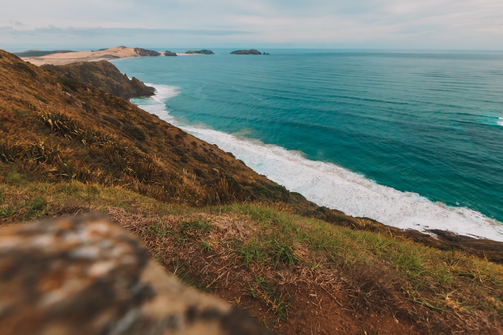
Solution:
[(388, 310), (425, 332), (435, 325), (441, 333), (452, 327), (491, 333), (503, 324), (503, 267), (459, 251), (334, 227), (264, 204), (186, 207), (121, 186), (33, 182), (14, 170), (0, 175), (0, 200), (1, 225), (107, 212), (140, 236), (166, 270), (201, 290), (232, 288), (235, 301), (263, 305), (273, 327), (297, 313), (300, 293), (291, 288), (299, 285), (308, 295), (344, 291), (346, 308)]

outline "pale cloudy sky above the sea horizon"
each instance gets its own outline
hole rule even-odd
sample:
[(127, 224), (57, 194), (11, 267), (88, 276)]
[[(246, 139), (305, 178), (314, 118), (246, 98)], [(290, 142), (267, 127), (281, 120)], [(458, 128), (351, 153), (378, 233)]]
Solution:
[(503, 50), (502, 0), (0, 0), (0, 49)]

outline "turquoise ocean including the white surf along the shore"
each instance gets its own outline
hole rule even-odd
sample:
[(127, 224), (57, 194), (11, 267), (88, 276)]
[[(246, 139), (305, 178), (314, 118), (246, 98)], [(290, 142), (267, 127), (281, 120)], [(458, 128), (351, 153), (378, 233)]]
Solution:
[(133, 103), (318, 205), (503, 241), (503, 53), (213, 51), (113, 63), (156, 88)]

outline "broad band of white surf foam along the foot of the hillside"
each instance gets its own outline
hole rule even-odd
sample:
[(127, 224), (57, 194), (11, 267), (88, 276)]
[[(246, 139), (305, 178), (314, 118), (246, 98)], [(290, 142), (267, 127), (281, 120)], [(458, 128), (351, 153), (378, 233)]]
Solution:
[(440, 229), (503, 241), (503, 224), (469, 208), (446, 206), (416, 193), (379, 185), (337, 165), (311, 161), (299, 152), (275, 145), (180, 124), (169, 116), (162, 102), (176, 95), (176, 88), (154, 87), (157, 94), (151, 99), (159, 105), (148, 103), (140, 105), (141, 108), (204, 141), (218, 145), (224, 151), (232, 152), (258, 173), (290, 191), (301, 193), (318, 205), (336, 208), (353, 216), (371, 217), (401, 229), (423, 232)]

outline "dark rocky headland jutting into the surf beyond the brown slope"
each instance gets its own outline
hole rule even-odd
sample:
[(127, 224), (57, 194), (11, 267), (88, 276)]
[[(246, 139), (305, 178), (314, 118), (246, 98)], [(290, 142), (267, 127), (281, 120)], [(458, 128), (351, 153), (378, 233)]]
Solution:
[(68, 79), (79, 81), (125, 99), (135, 96), (150, 96), (155, 93), (153, 87), (146, 86), (135, 77), (129, 79), (112, 63), (76, 62), (66, 65), (42, 65), (41, 68), (58, 73)]

